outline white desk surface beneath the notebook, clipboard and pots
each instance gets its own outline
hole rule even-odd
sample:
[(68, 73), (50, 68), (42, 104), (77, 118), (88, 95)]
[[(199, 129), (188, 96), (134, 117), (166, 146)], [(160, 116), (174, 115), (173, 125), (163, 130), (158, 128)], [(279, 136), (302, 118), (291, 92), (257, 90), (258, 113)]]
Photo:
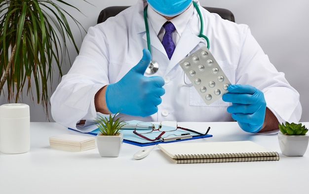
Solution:
[[(309, 122), (303, 122), (309, 126)], [(279, 161), (176, 164), (158, 148), (141, 160), (143, 149), (123, 143), (119, 157), (97, 149), (68, 152), (49, 148), (48, 137), (81, 134), (52, 122), (31, 123), (31, 150), (0, 154), (0, 194), (309, 194), (309, 149), (303, 157), (281, 154), (277, 135), (243, 132), (236, 122), (183, 122), (179, 126), (213, 137), (189, 142), (251, 140), (280, 155)]]

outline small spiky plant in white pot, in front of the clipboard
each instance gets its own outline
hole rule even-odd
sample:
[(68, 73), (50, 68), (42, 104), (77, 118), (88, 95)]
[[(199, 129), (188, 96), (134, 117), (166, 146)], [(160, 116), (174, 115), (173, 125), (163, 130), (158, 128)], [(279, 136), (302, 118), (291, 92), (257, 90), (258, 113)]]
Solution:
[(99, 128), (96, 136), (97, 148), (101, 157), (118, 157), (123, 142), (120, 129), (126, 124), (120, 117), (115, 120), (115, 114), (108, 117), (99, 115), (94, 121)]

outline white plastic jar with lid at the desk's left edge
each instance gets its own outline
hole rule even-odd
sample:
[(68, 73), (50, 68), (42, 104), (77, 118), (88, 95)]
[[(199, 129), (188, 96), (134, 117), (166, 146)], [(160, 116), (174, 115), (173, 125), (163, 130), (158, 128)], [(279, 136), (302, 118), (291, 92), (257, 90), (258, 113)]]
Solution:
[(30, 150), (30, 108), (27, 104), (0, 106), (0, 152), (21, 154)]

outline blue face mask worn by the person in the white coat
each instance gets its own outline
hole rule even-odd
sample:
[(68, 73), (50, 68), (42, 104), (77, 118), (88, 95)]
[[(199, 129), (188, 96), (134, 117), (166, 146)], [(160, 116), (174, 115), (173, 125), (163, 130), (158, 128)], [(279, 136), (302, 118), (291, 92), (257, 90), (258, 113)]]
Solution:
[(192, 0), (147, 0), (153, 9), (164, 16), (173, 17), (181, 14), (191, 4)]

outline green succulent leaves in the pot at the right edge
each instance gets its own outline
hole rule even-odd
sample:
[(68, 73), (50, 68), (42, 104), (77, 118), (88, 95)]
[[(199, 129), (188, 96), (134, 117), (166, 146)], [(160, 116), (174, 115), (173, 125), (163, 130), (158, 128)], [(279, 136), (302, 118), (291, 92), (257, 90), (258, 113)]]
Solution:
[(308, 132), (308, 129), (302, 123), (289, 123), (279, 124), (279, 130), (285, 135), (305, 135)]

